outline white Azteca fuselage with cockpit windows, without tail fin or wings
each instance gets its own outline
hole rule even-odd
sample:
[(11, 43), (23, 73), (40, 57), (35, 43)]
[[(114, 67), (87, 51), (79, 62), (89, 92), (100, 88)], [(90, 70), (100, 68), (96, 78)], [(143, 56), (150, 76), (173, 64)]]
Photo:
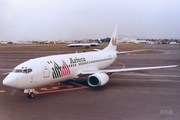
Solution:
[(101, 70), (111, 65), (116, 51), (84, 52), (30, 59), (14, 68), (5, 84), (17, 89), (32, 89), (78, 78), (82, 70)]

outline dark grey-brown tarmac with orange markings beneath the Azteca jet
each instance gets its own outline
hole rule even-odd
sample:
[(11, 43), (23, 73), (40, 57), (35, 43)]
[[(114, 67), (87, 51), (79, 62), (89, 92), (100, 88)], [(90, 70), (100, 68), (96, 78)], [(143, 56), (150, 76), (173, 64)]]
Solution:
[[(163, 51), (123, 54), (109, 68), (180, 65), (179, 45), (145, 45)], [(29, 99), (22, 91), (2, 85), (19, 63), (50, 53), (0, 53), (0, 120), (178, 120), (180, 119), (180, 67), (110, 76), (100, 88), (79, 82), (36, 89)]]

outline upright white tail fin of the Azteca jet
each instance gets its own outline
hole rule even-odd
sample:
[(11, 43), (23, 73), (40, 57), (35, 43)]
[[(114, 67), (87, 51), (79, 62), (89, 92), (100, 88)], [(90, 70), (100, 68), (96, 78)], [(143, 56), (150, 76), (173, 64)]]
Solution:
[(106, 48), (103, 51), (116, 51), (117, 49), (117, 40), (118, 40), (118, 25), (116, 25), (114, 32), (112, 34), (111, 40)]

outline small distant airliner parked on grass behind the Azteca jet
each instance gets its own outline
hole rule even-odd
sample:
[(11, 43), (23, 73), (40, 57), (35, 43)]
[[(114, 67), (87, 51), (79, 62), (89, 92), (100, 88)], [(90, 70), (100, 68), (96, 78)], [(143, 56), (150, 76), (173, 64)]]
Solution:
[(69, 44), (68, 47), (85, 47), (89, 48), (90, 46), (99, 46), (99, 43), (77, 43), (77, 44)]

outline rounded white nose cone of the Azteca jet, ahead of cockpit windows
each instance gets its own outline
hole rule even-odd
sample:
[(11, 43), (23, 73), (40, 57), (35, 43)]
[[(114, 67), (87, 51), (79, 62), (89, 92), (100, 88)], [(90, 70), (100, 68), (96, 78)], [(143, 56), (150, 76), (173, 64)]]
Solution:
[(17, 86), (17, 79), (14, 75), (9, 74), (4, 80), (3, 80), (3, 85), (8, 86), (8, 87), (13, 87), (16, 88)]

